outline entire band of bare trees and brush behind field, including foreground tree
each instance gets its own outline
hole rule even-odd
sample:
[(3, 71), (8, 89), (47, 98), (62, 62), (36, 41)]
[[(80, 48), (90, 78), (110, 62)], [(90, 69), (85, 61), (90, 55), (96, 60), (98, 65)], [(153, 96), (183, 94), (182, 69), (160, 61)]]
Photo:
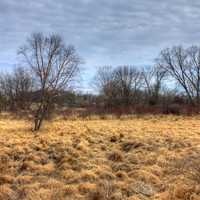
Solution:
[(199, 112), (198, 46), (164, 49), (149, 67), (99, 67), (93, 81), (96, 95), (70, 90), (80, 76), (81, 59), (60, 36), (32, 34), (18, 55), (20, 67), (0, 75), (0, 109), (31, 111), (34, 130), (55, 108), (84, 107), (97, 114)]

